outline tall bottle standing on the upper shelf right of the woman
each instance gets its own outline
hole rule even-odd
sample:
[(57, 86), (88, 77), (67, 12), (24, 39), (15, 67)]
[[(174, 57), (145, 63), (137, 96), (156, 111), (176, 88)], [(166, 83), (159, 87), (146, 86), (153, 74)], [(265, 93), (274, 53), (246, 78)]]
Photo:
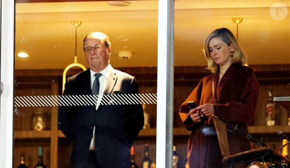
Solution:
[(266, 102), (266, 124), (268, 126), (275, 125), (274, 116), (275, 116), (275, 105), (273, 102), (271, 90), (268, 90), (268, 99)]

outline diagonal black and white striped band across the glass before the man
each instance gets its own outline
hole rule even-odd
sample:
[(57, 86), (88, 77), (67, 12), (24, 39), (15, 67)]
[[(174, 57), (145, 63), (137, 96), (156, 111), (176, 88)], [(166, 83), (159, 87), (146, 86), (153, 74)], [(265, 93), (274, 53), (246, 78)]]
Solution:
[[(15, 107), (96, 105), (98, 95), (15, 96)], [(156, 104), (157, 93), (104, 94), (100, 105)]]

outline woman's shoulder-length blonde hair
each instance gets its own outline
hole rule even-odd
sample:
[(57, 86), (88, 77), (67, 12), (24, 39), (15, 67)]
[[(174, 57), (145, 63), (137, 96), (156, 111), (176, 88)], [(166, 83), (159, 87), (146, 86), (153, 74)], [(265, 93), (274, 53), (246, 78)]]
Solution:
[(234, 46), (235, 49), (233, 51), (232, 58), (231, 58), (233, 63), (240, 63), (242, 65), (245, 64), (246, 57), (245, 57), (242, 49), (240, 48), (237, 40), (233, 36), (232, 32), (227, 28), (218, 28), (218, 29), (215, 29), (214, 31), (212, 31), (208, 35), (208, 37), (206, 38), (206, 40), (204, 42), (203, 52), (204, 52), (204, 55), (207, 59), (206, 69), (209, 69), (212, 73), (216, 72), (216, 69), (217, 69), (217, 64), (214, 62), (214, 60), (210, 56), (210, 52), (209, 52), (209, 48), (208, 48), (209, 41), (215, 37), (221, 39), (228, 46), (230, 44), (232, 44)]

